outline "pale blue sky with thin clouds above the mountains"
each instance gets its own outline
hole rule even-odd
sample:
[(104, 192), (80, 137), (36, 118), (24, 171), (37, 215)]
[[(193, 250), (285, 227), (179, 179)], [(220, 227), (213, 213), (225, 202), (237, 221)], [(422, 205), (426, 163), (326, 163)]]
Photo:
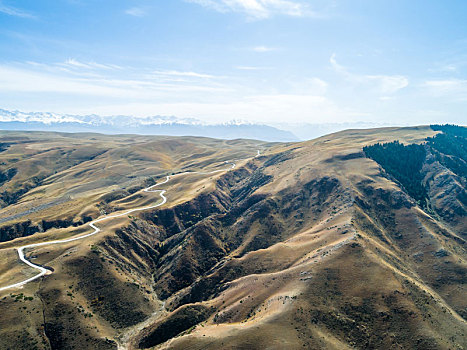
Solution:
[(467, 124), (465, 0), (0, 0), (0, 108)]

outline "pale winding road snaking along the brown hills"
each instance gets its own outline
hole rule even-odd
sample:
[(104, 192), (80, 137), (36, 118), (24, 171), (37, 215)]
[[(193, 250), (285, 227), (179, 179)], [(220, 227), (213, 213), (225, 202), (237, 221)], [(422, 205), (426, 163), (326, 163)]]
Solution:
[[(260, 155), (260, 151), (258, 151), (258, 154), (255, 156), (255, 157), (258, 157)], [(210, 171), (210, 172), (201, 172), (201, 171), (187, 171), (187, 172), (184, 172), (184, 173), (178, 173), (178, 174), (175, 174), (175, 175), (172, 175), (172, 177), (174, 176), (182, 176), (182, 175), (188, 175), (188, 174), (201, 174), (201, 175), (211, 175), (211, 174), (215, 174), (215, 173), (219, 173), (219, 172), (224, 172), (224, 171), (229, 171), (229, 170), (232, 170), (235, 168), (236, 164), (233, 163), (233, 162), (229, 162), (229, 161), (226, 161), (225, 164), (232, 164), (232, 166), (230, 168), (227, 168), (227, 169), (220, 169), (220, 170), (214, 170), (214, 171)], [(35, 281), (36, 279), (46, 275), (47, 273), (51, 273), (52, 271), (50, 270), (47, 270), (45, 267), (42, 267), (40, 265), (36, 265), (34, 263), (32, 263), (31, 261), (29, 261), (25, 255), (24, 255), (24, 250), (25, 249), (30, 249), (30, 248), (36, 248), (36, 247), (42, 247), (42, 246), (46, 246), (46, 245), (52, 245), (52, 244), (63, 244), (63, 243), (68, 243), (68, 242), (73, 242), (73, 241), (78, 241), (80, 239), (84, 239), (84, 238), (87, 238), (87, 237), (90, 237), (90, 236), (93, 236), (97, 233), (99, 233), (101, 231), (100, 228), (96, 227), (95, 224), (99, 223), (99, 222), (102, 222), (102, 221), (105, 221), (105, 220), (109, 220), (109, 219), (114, 219), (114, 218), (118, 218), (118, 217), (122, 217), (122, 216), (125, 216), (125, 215), (129, 215), (131, 213), (134, 213), (136, 211), (143, 211), (143, 210), (149, 210), (149, 209), (154, 209), (154, 208), (157, 208), (157, 207), (160, 207), (161, 205), (164, 205), (166, 202), (167, 202), (167, 198), (165, 197), (165, 193), (167, 192), (166, 190), (153, 190), (153, 188), (155, 187), (158, 187), (158, 186), (161, 186), (161, 185), (164, 185), (166, 184), (167, 182), (169, 182), (171, 179), (171, 176), (167, 176), (166, 179), (161, 182), (161, 183), (157, 183), (155, 185), (152, 185), (152, 186), (149, 186), (145, 189), (143, 189), (143, 192), (159, 192), (159, 195), (160, 197), (162, 198), (162, 202), (158, 203), (158, 204), (155, 204), (155, 205), (151, 205), (151, 206), (146, 206), (146, 207), (140, 207), (140, 208), (134, 208), (134, 209), (130, 209), (128, 211), (125, 211), (123, 213), (120, 213), (120, 214), (114, 214), (114, 215), (108, 215), (108, 216), (104, 216), (102, 218), (99, 218), (99, 219), (96, 219), (92, 222), (90, 222), (88, 224), (89, 227), (91, 227), (94, 231), (91, 232), (91, 233), (88, 233), (88, 234), (85, 234), (85, 235), (82, 235), (82, 236), (78, 236), (78, 237), (73, 237), (73, 238), (69, 238), (69, 239), (63, 239), (63, 240), (57, 240), (57, 241), (50, 241), (50, 242), (42, 242), (42, 243), (34, 243), (34, 244), (28, 244), (28, 245), (25, 245), (25, 246), (22, 246), (22, 247), (19, 247), (19, 248), (16, 248), (17, 252), (18, 252), (18, 257), (19, 259), (24, 262), (26, 265), (32, 267), (33, 269), (36, 269), (39, 271), (39, 273), (31, 278), (28, 278), (24, 281), (21, 281), (21, 282), (18, 282), (18, 283), (14, 283), (14, 284), (10, 284), (8, 286), (5, 286), (5, 287), (1, 287), (0, 288), (0, 291), (3, 291), (3, 290), (6, 290), (6, 289), (14, 289), (14, 288), (19, 288), (19, 287), (22, 287), (24, 286), (25, 284), (29, 283), (29, 282), (32, 282), (32, 281)]]

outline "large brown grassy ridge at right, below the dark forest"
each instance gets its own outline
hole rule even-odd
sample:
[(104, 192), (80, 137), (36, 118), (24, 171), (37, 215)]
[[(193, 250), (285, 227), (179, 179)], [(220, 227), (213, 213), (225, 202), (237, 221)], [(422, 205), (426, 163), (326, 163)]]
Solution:
[[(156, 288), (170, 291), (172, 313), (134, 346), (462, 348), (463, 232), (423, 212), (361, 151), (433, 134), (428, 127), (346, 131), (253, 161), (250, 176), (269, 180), (257, 189), (251, 180), (228, 186), (230, 195), (253, 189), (253, 205), (239, 198), (241, 215), (182, 231), (182, 248), (160, 260)], [(220, 258), (198, 275), (206, 263), (199, 250), (213, 231), (208, 251)]]

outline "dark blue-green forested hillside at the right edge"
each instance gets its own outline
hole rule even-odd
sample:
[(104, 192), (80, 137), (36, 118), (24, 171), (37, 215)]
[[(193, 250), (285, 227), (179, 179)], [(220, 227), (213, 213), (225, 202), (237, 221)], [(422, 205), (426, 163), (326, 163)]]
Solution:
[[(464, 127), (434, 125), (422, 144), (398, 140), (364, 147), (417, 204), (460, 232), (467, 227), (467, 137)], [(458, 227), (458, 225), (461, 225)]]

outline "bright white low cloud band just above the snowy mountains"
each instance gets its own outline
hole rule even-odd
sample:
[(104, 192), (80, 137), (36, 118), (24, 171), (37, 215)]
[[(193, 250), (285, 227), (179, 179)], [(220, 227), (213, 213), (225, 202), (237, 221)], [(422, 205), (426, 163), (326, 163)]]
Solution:
[(177, 103), (123, 103), (97, 106), (91, 109), (73, 110), (73, 113), (128, 114), (128, 115), (176, 115), (193, 117), (207, 123), (225, 122), (232, 119), (276, 124), (285, 120), (303, 123), (319, 123), (333, 120), (344, 122), (355, 119), (351, 110), (341, 110), (332, 101), (314, 95), (252, 95), (231, 98), (228, 101), (208, 103), (180, 101)]

